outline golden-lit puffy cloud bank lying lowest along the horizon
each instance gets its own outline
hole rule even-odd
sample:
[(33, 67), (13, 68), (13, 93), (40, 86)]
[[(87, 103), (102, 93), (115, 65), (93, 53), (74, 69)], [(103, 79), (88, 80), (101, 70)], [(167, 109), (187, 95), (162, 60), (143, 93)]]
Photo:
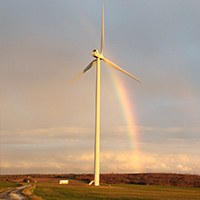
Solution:
[[(38, 173), (92, 173), (94, 156), (91, 151), (54, 152), (51, 156), (39, 155), (38, 152), (30, 157), (4, 159), (1, 164), (2, 173), (19, 170), (22, 172)], [(17, 155), (16, 155), (17, 156)], [(133, 154), (130, 151), (104, 151), (100, 156), (101, 173), (136, 173), (136, 172), (165, 172), (199, 174), (198, 154), (150, 154), (143, 152)]]

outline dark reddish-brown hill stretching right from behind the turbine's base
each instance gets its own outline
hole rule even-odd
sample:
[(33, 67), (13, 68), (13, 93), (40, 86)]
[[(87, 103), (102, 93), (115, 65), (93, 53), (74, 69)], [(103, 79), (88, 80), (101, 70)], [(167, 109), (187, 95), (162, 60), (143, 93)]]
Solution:
[[(92, 174), (76, 175), (79, 180), (92, 180)], [(137, 184), (162, 185), (200, 188), (200, 176), (171, 173), (139, 173), (139, 174), (101, 174), (101, 183), (107, 184)]]

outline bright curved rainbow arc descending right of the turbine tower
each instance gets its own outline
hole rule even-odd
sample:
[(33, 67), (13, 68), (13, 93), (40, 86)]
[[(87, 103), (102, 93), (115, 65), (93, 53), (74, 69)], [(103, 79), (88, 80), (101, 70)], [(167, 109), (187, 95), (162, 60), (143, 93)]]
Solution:
[(125, 123), (127, 126), (127, 132), (129, 134), (129, 138), (131, 141), (132, 147), (132, 157), (130, 158), (132, 162), (132, 168), (134, 173), (142, 172), (142, 165), (141, 165), (141, 151), (139, 148), (139, 136), (137, 133), (136, 127), (136, 117), (133, 111), (133, 102), (129, 96), (129, 91), (127, 91), (127, 86), (119, 73), (115, 73), (114, 70), (107, 68), (109, 71), (109, 75), (112, 79), (112, 83), (115, 88), (115, 92), (120, 101), (122, 113), (124, 115)]

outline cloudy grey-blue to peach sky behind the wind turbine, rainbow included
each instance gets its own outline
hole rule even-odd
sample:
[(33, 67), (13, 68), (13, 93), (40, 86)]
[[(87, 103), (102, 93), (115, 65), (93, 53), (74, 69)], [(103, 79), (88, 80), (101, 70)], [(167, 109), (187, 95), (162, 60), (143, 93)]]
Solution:
[(200, 1), (0, 0), (1, 174), (200, 174)]

